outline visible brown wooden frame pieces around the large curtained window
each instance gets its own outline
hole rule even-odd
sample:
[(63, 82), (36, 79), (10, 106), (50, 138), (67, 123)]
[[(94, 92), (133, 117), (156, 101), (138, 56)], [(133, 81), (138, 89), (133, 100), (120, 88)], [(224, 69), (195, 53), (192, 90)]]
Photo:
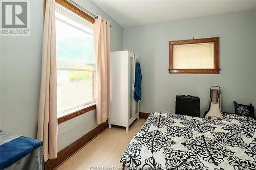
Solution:
[[(87, 13), (83, 12), (82, 10), (80, 10), (79, 8), (77, 8), (76, 6), (74, 6), (73, 4), (68, 2), (67, 0), (55, 0), (55, 2), (58, 3), (59, 5), (65, 7), (65, 8), (67, 8), (68, 10), (74, 12), (75, 14), (79, 15), (80, 17), (86, 19), (87, 21), (91, 22), (92, 24), (94, 24), (95, 19), (93, 17), (91, 17)], [(45, 11), (46, 11), (46, 0), (44, 0), (44, 21), (45, 21)], [(66, 122), (67, 120), (70, 120), (74, 117), (77, 117), (81, 114), (84, 114), (84, 113), (89, 112), (89, 111), (94, 110), (94, 109), (96, 109), (96, 104), (89, 105), (86, 108), (83, 108), (83, 109), (80, 109), (80, 110), (75, 111), (73, 113), (58, 117), (58, 124)]]

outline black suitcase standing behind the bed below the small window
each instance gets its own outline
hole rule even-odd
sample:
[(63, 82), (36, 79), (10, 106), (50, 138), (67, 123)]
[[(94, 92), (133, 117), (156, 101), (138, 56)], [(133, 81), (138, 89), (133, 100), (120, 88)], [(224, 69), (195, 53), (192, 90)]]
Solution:
[(200, 99), (191, 95), (176, 95), (175, 114), (200, 117)]

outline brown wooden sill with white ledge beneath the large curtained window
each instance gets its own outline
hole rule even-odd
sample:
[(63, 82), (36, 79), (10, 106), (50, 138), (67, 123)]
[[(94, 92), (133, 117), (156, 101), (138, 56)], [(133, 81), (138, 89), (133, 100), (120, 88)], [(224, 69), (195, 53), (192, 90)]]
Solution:
[(89, 112), (89, 111), (94, 110), (94, 109), (96, 109), (96, 102), (92, 103), (92, 104), (89, 104), (89, 105), (86, 105), (86, 106), (76, 108), (72, 111), (61, 113), (60, 116), (58, 117), (58, 124), (66, 122), (67, 120), (70, 120), (70, 119), (72, 119), (76, 116), (79, 116), (83, 113)]

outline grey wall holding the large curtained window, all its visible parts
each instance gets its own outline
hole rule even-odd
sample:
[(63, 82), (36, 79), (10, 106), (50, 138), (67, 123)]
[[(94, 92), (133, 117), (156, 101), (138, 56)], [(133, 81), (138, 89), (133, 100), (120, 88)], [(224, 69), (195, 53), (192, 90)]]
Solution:
[[(43, 1), (30, 1), (31, 35), (0, 37), (1, 130), (36, 138), (43, 32)], [(123, 48), (123, 28), (91, 1), (75, 1), (110, 20), (111, 51)], [(59, 125), (58, 149), (97, 126), (95, 110)]]

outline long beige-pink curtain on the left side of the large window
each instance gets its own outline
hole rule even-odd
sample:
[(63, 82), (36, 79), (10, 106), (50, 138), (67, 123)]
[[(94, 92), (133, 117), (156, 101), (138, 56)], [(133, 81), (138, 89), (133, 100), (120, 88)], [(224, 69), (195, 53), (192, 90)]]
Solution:
[(45, 161), (57, 157), (57, 86), (55, 1), (47, 0), (42, 44), (41, 88), (37, 138), (42, 140)]

